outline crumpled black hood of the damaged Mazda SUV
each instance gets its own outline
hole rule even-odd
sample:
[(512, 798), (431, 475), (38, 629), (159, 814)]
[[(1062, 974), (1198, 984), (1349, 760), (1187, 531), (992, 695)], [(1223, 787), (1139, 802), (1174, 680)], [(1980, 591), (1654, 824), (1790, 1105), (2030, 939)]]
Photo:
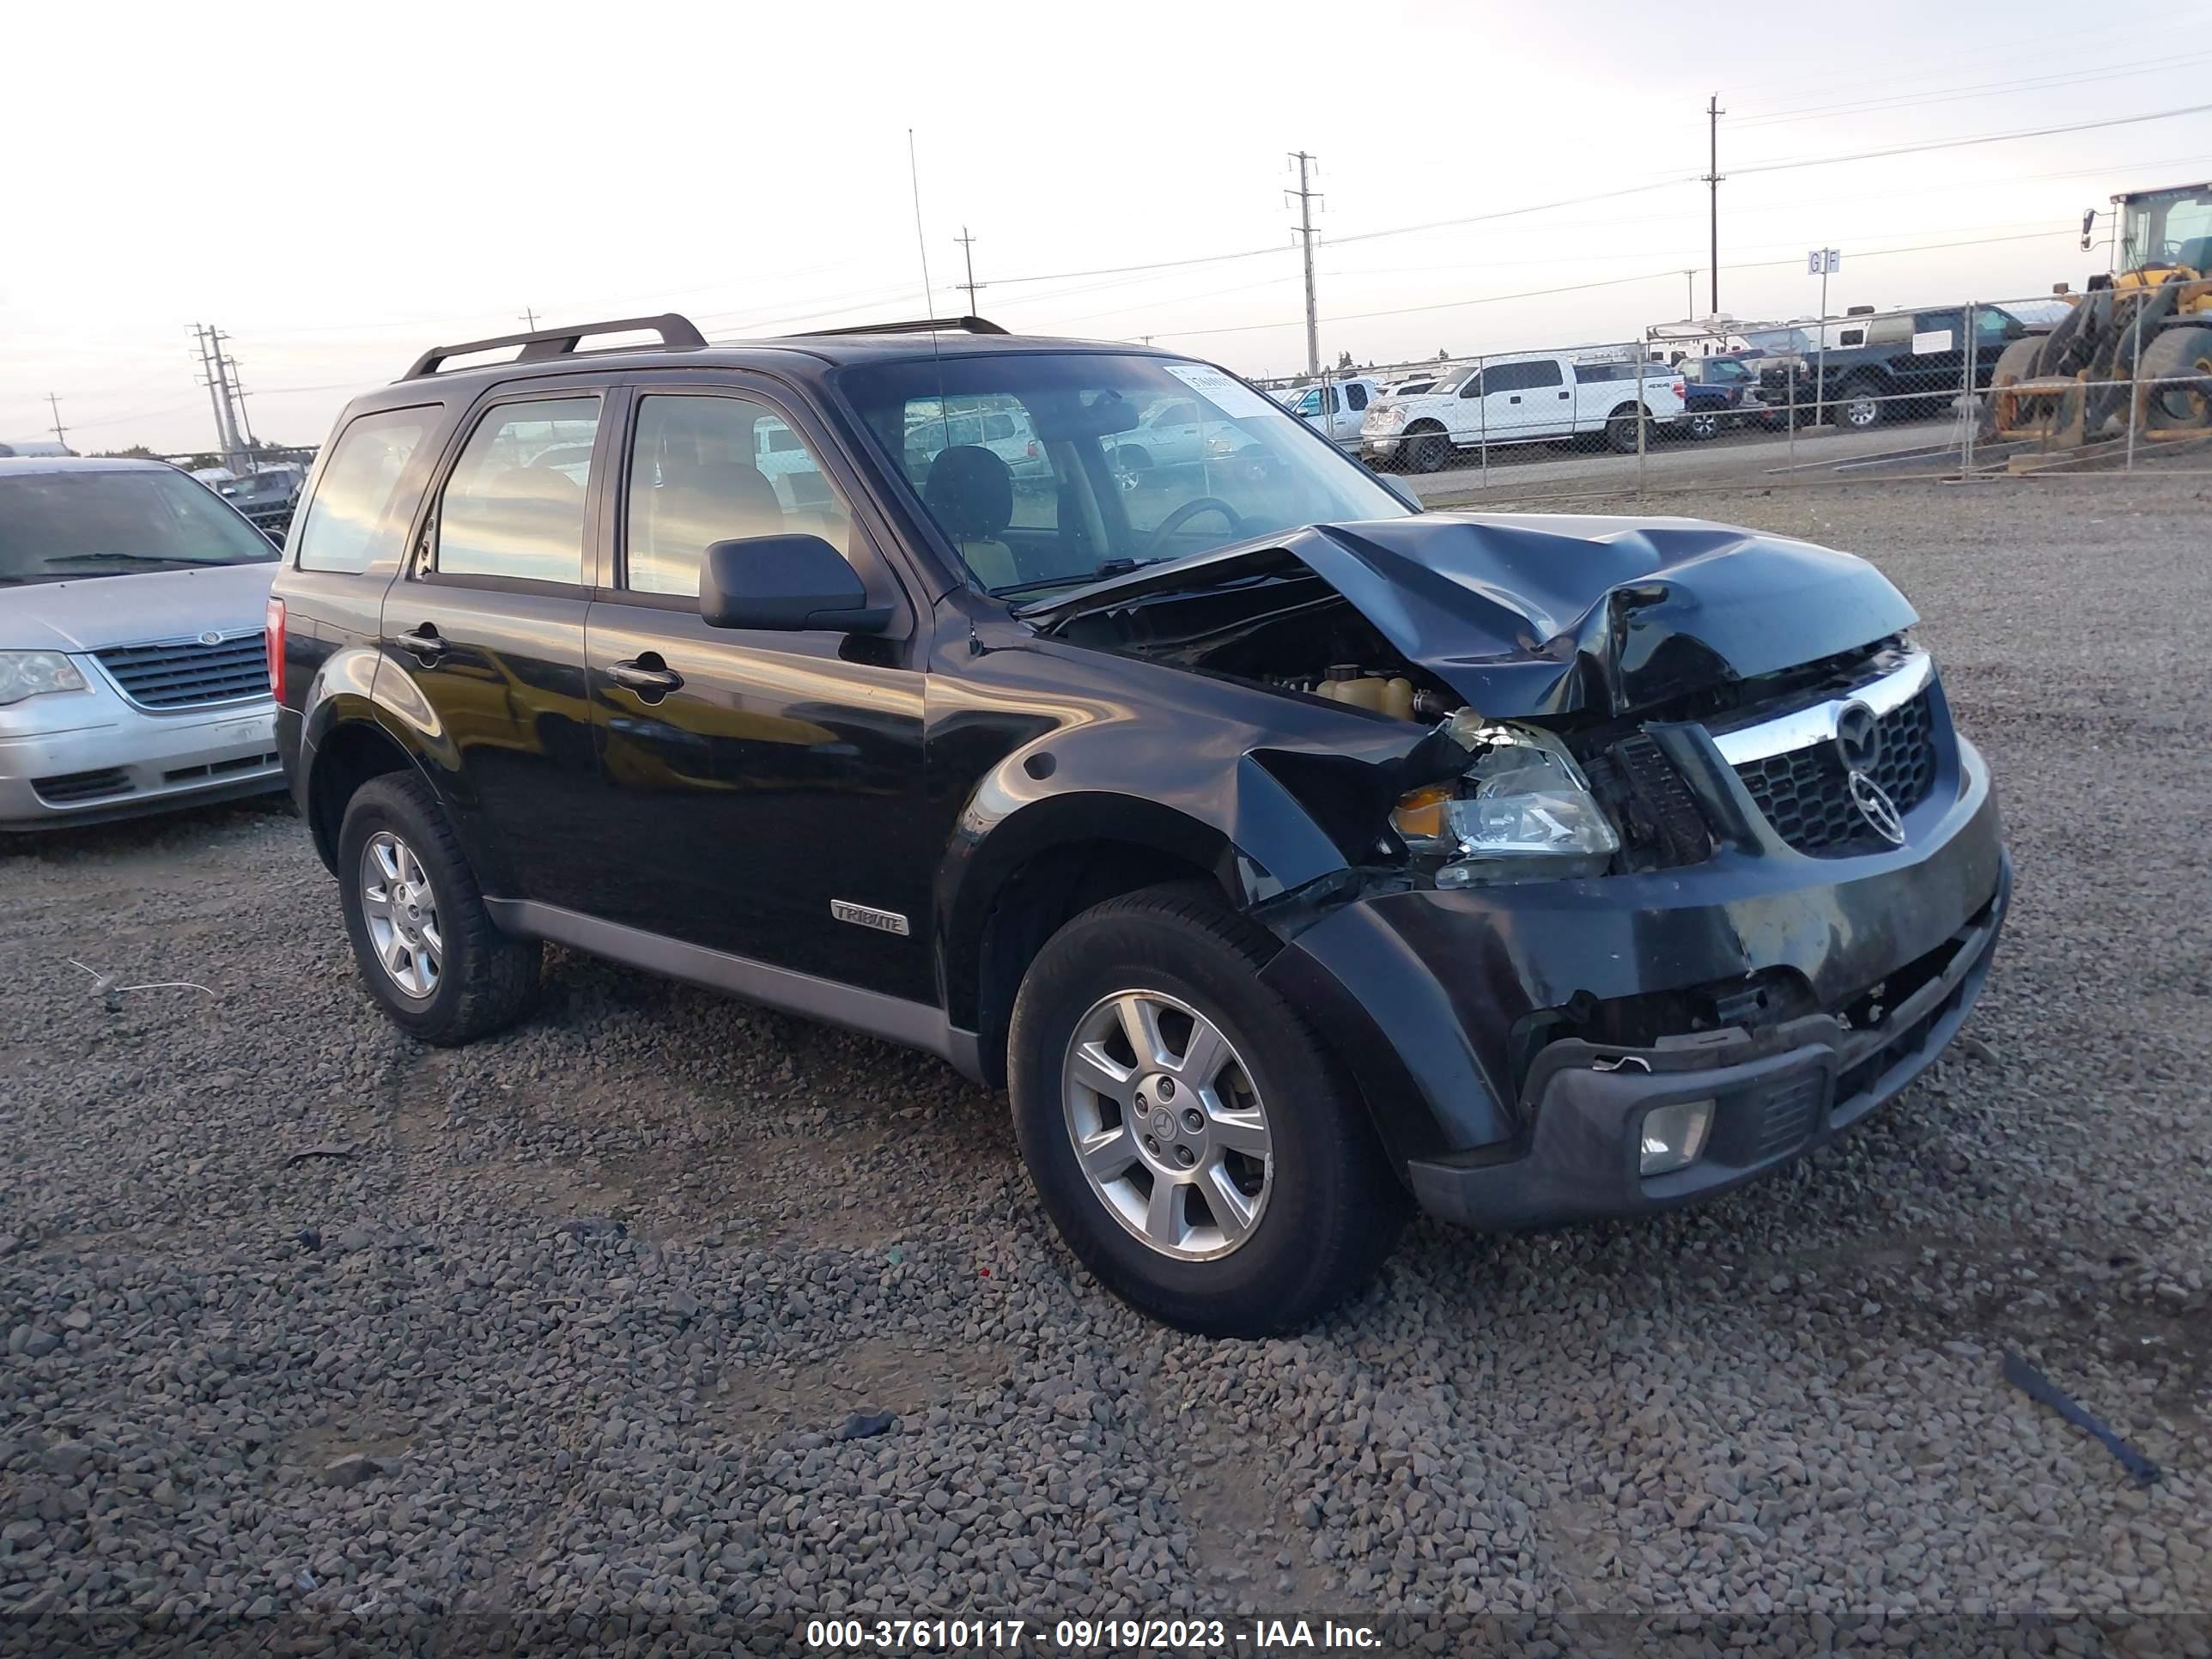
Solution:
[(1022, 617), (1055, 630), (1298, 564), (1493, 717), (1626, 714), (1918, 622), (1889, 577), (1849, 553), (1692, 518), (1568, 513), (1314, 524), (1095, 582)]

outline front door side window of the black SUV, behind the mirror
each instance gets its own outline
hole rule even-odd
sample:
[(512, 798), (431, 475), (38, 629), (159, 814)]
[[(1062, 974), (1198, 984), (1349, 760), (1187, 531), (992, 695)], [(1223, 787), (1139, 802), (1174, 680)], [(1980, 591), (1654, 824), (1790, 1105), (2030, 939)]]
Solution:
[(748, 535), (821, 535), (847, 551), (852, 515), (805, 440), (752, 398), (637, 405), (624, 584), (697, 597), (699, 555)]

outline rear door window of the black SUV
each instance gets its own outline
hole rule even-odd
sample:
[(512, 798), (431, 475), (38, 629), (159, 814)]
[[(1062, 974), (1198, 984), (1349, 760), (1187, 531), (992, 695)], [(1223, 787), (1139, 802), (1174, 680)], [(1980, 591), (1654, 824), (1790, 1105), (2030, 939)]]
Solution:
[(438, 500), (436, 568), (582, 584), (597, 429), (597, 398), (487, 409)]

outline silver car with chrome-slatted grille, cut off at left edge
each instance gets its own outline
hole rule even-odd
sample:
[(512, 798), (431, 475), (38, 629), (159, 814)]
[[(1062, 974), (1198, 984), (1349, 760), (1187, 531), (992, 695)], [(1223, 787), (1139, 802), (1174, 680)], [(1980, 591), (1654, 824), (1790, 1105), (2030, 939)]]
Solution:
[(0, 830), (283, 787), (276, 549), (157, 460), (0, 460)]

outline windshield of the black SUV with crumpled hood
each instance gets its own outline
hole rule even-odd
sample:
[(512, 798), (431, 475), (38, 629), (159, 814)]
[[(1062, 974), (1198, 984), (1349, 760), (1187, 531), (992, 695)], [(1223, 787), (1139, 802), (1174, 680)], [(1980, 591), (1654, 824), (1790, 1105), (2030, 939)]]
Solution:
[(1203, 363), (962, 354), (854, 367), (838, 385), (991, 593), (1411, 511), (1283, 405)]

